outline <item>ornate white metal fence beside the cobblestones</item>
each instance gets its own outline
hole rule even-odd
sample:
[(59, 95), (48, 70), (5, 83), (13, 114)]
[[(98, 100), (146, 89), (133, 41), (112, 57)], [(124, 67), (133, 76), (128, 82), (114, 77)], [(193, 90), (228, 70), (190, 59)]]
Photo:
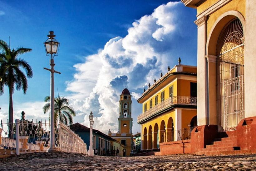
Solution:
[[(50, 124), (16, 120), (0, 125), (0, 155), (43, 152), (50, 148)], [(86, 143), (69, 127), (55, 126), (55, 150), (87, 154)], [(18, 144), (18, 146), (16, 146)]]

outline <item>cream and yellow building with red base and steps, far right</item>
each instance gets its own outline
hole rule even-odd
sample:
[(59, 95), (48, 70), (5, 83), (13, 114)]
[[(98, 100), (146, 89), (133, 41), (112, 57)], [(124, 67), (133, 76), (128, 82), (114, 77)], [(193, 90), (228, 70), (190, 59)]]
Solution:
[[(197, 10), (199, 127), (191, 134), (191, 151), (256, 151), (256, 1), (181, 2)], [(216, 138), (221, 142), (212, 144)]]

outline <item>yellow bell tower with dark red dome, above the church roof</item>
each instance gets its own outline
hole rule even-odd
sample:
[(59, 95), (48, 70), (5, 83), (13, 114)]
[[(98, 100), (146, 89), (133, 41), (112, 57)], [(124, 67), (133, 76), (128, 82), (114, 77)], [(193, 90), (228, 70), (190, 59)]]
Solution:
[(119, 100), (118, 132), (132, 133), (131, 95), (128, 89), (124, 89)]

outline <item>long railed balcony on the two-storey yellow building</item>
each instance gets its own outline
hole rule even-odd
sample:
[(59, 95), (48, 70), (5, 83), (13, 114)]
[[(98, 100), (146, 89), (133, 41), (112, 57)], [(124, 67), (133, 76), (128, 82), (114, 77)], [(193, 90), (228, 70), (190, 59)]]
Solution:
[(194, 105), (197, 104), (197, 98), (196, 97), (190, 97), (190, 96), (174, 96), (170, 97), (169, 99), (166, 99), (162, 101), (160, 104), (155, 105), (151, 109), (147, 110), (146, 112), (141, 113), (138, 118), (137, 122), (142, 121), (145, 118), (148, 118), (152, 115), (154, 115), (156, 112), (168, 108), (171, 105), (175, 104), (181, 104), (181, 105)]

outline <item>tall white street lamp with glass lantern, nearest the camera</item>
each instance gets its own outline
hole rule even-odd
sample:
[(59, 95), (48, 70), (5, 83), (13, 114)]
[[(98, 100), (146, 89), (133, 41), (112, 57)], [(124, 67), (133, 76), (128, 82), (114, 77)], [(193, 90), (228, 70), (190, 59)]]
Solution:
[[(49, 31), (49, 35), (47, 35), (48, 39), (46, 42), (44, 42), (45, 46), (45, 52), (46, 55), (49, 53), (51, 54), (51, 59), (50, 59), (50, 66), (51, 69), (44, 68), (48, 71), (51, 72), (51, 135), (50, 135), (50, 148), (48, 151), (54, 150), (55, 147), (55, 131), (54, 131), (54, 72), (60, 74), (60, 72), (57, 72), (54, 70), (54, 57), (56, 56), (55, 54), (58, 53), (59, 50), (59, 42), (54, 38), (55, 35), (53, 34), (53, 31)], [(52, 56), (53, 55), (53, 56)]]

